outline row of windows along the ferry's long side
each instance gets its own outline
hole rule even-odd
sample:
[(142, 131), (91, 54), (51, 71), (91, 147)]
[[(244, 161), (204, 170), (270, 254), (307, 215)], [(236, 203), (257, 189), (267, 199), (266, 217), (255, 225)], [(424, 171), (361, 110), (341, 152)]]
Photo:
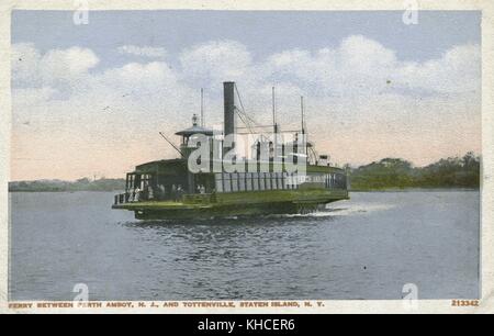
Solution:
[(299, 176), (287, 172), (234, 172), (216, 173), (216, 192), (239, 192), (258, 190), (293, 190), (302, 183), (316, 183), (322, 188), (346, 188), (343, 175)]

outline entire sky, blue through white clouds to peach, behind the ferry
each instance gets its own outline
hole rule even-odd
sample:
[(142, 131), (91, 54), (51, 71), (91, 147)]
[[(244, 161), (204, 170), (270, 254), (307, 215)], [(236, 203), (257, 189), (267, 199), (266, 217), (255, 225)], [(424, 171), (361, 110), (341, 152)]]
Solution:
[[(189, 127), (205, 90), (221, 127), (222, 82), (245, 110), (300, 124), (319, 154), (353, 166), (416, 166), (481, 154), (480, 12), (69, 11), (12, 16), (11, 180), (123, 177), (175, 157), (158, 132)], [(178, 139), (177, 139), (178, 142)]]

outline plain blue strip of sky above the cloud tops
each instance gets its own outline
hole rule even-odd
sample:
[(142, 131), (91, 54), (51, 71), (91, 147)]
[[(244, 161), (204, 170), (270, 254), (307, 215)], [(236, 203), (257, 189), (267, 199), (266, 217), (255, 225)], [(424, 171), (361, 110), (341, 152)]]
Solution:
[[(122, 44), (159, 45), (177, 54), (204, 41), (234, 40), (255, 57), (291, 48), (336, 46), (348, 35), (366, 35), (396, 51), (400, 59), (439, 57), (459, 44), (481, 43), (481, 12), (424, 11), (419, 24), (405, 25), (402, 11), (252, 12), (119, 11), (91, 12), (89, 25), (74, 25), (72, 12), (14, 11), (12, 42), (35, 42), (40, 51), (78, 46), (93, 49), (100, 66), (124, 63)], [(116, 58), (116, 59), (115, 59)]]

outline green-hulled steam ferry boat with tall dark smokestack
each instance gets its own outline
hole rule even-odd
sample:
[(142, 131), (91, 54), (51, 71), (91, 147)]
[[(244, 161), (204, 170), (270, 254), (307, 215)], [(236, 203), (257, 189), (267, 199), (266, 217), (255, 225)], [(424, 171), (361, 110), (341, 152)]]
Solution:
[[(192, 126), (176, 133), (180, 146), (160, 133), (179, 157), (135, 167), (126, 175), (125, 192), (115, 195), (113, 209), (133, 211), (137, 220), (211, 219), (308, 213), (349, 199), (347, 171), (330, 165), (329, 156), (318, 155), (307, 141), (303, 98), (301, 128), (282, 132), (276, 117), (274, 88), (273, 124), (268, 126), (255, 123), (245, 112), (235, 82), (224, 82), (223, 89), (223, 130), (204, 126), (201, 90), (201, 123), (194, 114)], [(266, 127), (272, 132), (256, 132)], [(257, 136), (248, 146), (249, 155), (236, 154), (235, 139), (240, 134)], [(282, 134), (293, 141), (283, 142)], [(231, 137), (234, 141), (227, 142)], [(204, 143), (207, 157), (198, 157)], [(225, 164), (227, 156), (235, 165)], [(191, 163), (201, 169), (191, 169)], [(294, 164), (303, 169), (289, 169)]]

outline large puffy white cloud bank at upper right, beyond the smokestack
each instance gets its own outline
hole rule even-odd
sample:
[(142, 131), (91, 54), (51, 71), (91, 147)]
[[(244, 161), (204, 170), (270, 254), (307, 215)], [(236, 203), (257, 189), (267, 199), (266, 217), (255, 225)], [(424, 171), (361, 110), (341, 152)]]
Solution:
[(394, 51), (375, 41), (349, 36), (336, 48), (271, 55), (263, 71), (322, 96), (461, 93), (480, 88), (480, 46), (464, 45), (447, 51), (438, 59), (400, 61)]

